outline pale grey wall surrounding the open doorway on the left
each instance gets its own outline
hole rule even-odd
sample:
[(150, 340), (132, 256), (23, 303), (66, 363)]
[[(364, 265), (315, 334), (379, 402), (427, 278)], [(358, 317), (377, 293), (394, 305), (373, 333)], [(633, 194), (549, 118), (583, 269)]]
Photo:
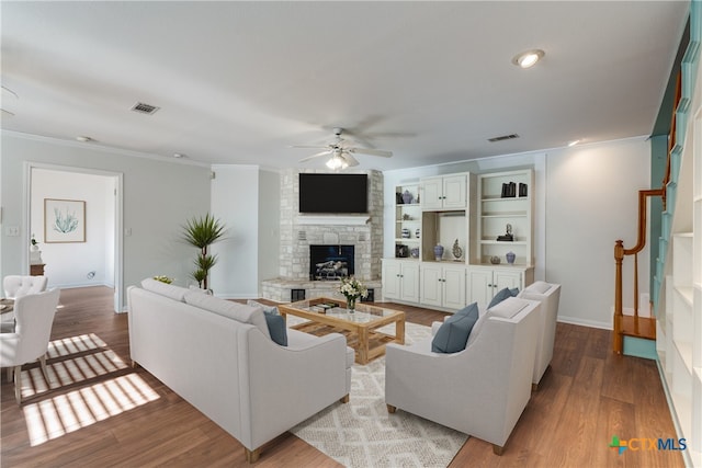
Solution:
[[(25, 168), (27, 162), (36, 162), (123, 174), (125, 287), (157, 274), (173, 276), (179, 284), (185, 284), (192, 248), (180, 240), (180, 231), (185, 219), (210, 209), (208, 167), (7, 130), (1, 136), (0, 275), (29, 273), (26, 260), (23, 261), (31, 236), (25, 216), (29, 206)], [(20, 228), (20, 236), (8, 236), (7, 228), (12, 226)]]

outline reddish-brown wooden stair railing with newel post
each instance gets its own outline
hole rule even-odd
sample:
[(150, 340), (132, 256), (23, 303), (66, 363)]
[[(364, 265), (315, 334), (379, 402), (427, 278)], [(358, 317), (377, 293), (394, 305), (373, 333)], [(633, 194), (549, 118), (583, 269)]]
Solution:
[[(670, 133), (668, 134), (668, 157), (666, 161), (666, 170), (663, 178), (660, 189), (641, 190), (638, 191), (638, 227), (636, 246), (632, 249), (624, 249), (624, 241), (619, 239), (614, 243), (614, 318), (612, 333), (612, 350), (622, 354), (624, 351), (624, 336), (645, 338), (648, 340), (656, 339), (656, 319), (638, 317), (638, 252), (646, 247), (646, 212), (647, 201), (650, 196), (660, 196), (663, 201), (663, 209), (666, 209), (666, 186), (670, 182), (670, 159), (672, 149), (676, 146), (676, 124), (677, 110), (681, 98), (682, 75), (678, 73), (676, 79), (676, 93), (672, 106), (672, 115), (670, 117)], [(624, 316), (622, 303), (622, 263), (624, 256), (634, 255), (634, 316)], [(652, 308), (653, 310), (653, 308)]]

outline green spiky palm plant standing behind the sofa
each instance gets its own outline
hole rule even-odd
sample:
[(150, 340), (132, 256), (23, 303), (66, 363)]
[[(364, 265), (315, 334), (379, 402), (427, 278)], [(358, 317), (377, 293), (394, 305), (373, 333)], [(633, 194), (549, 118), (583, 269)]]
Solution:
[(207, 276), (210, 270), (217, 263), (217, 255), (207, 252), (211, 244), (224, 237), (225, 227), (210, 213), (204, 217), (193, 217), (183, 225), (183, 240), (200, 249), (195, 259), (195, 271), (191, 274), (201, 288), (210, 289)]

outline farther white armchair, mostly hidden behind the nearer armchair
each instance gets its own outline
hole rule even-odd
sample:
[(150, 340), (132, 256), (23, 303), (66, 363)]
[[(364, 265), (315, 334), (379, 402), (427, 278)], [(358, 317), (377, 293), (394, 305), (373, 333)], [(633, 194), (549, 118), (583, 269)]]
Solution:
[(539, 281), (526, 286), (517, 297), (541, 303), (541, 317), (536, 335), (536, 359), (532, 379), (532, 389), (537, 390), (539, 383), (551, 365), (551, 359), (553, 359), (561, 285)]

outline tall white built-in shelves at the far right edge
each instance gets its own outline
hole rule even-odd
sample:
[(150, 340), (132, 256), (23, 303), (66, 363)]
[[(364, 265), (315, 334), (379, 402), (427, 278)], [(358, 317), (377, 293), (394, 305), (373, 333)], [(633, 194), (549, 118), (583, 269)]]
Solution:
[[(671, 403), (678, 437), (684, 438), (687, 466), (702, 466), (702, 87), (695, 87), (697, 113), (689, 121), (679, 164), (672, 180), (675, 193), (668, 203), (675, 210), (664, 213), (670, 222), (664, 294), (656, 328), (658, 363)], [(672, 174), (671, 174), (672, 176)], [(667, 242), (667, 244), (666, 244)]]

